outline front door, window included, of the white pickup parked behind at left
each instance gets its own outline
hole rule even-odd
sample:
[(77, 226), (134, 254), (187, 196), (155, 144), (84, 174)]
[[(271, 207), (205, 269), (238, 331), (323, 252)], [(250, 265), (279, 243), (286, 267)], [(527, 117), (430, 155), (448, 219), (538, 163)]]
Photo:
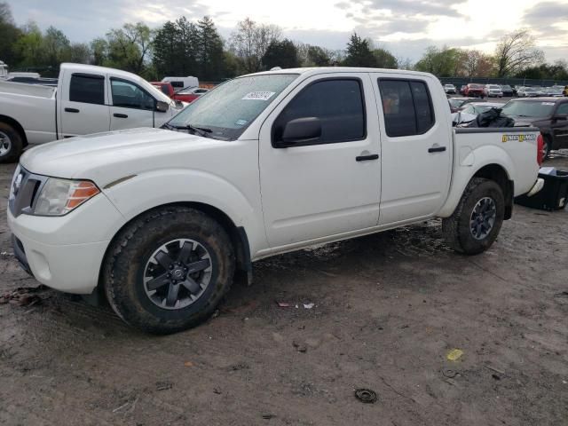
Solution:
[(110, 94), (110, 130), (154, 127), (155, 99), (138, 84), (110, 77)]

